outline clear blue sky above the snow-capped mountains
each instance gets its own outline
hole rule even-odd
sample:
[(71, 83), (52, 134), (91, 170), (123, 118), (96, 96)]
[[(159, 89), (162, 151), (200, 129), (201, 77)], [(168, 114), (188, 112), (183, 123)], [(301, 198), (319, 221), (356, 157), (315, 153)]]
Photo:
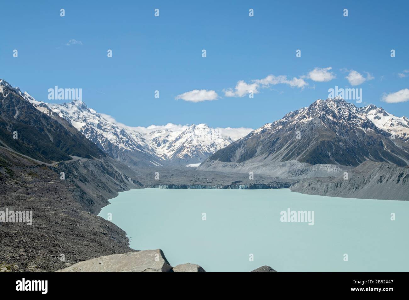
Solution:
[[(81, 88), (88, 107), (129, 126), (257, 128), (335, 86), (362, 88), (358, 106), (409, 116), (409, 102), (382, 101), (409, 88), (408, 8), (404, 1), (2, 1), (0, 78), (45, 102), (56, 85)], [(352, 86), (345, 78), (352, 71), (366, 80)], [(286, 77), (253, 81), (269, 75)], [(254, 98), (235, 93), (240, 80), (258, 84)], [(356, 73), (351, 80), (362, 81)], [(175, 99), (193, 90), (214, 91), (217, 100)]]

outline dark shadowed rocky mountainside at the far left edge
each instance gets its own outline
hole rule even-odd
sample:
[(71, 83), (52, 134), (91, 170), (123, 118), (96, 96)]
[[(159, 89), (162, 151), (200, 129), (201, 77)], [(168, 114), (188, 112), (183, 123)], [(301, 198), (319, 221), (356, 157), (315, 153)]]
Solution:
[[(0, 82), (1, 141), (7, 147), (47, 163), (72, 156), (101, 158), (106, 155), (58, 116), (43, 113), (20, 96), (7, 82)], [(28, 95), (28, 94), (27, 94)], [(29, 99), (29, 95), (24, 95)], [(47, 107), (40, 107), (47, 111)], [(13, 138), (13, 132), (17, 138)]]

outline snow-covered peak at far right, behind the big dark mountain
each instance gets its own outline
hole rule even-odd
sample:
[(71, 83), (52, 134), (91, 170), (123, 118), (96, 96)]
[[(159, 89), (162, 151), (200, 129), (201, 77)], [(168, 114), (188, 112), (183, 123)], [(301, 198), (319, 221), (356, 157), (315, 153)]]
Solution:
[(373, 104), (362, 107), (360, 112), (364, 113), (378, 128), (394, 133), (401, 140), (409, 140), (409, 119), (405, 116), (393, 116), (382, 107), (376, 107)]

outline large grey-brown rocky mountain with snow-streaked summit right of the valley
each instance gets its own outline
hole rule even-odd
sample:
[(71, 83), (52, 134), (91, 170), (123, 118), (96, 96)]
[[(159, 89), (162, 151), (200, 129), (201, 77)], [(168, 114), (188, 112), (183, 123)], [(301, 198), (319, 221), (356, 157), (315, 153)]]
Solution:
[(219, 162), (285, 162), (357, 166), (366, 160), (409, 163), (409, 145), (379, 129), (355, 105), (317, 100), (265, 124), (210, 156)]

